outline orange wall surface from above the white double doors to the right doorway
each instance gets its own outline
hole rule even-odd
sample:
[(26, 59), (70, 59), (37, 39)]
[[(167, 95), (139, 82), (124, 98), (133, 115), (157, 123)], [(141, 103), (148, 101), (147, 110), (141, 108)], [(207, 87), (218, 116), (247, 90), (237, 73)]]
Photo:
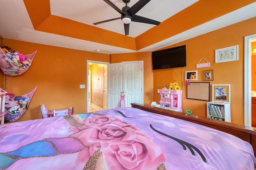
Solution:
[[(214, 70), (214, 80), (210, 84), (231, 84), (231, 119), (233, 123), (244, 124), (244, 36), (256, 33), (256, 18), (182, 41), (166, 48), (186, 45), (187, 66), (183, 68), (169, 68), (152, 71), (151, 53), (129, 53), (111, 55), (111, 62), (143, 60), (144, 63), (144, 104), (152, 101), (159, 103), (160, 95), (157, 89), (163, 88), (171, 82), (178, 82), (182, 86), (183, 111), (192, 110), (194, 115), (206, 117), (206, 101), (186, 99), (185, 72), (198, 71), (198, 80), (203, 81), (203, 70)], [(153, 37), (152, 37), (153, 38)], [(238, 61), (215, 63), (215, 49), (239, 45)], [(204, 57), (210, 62), (210, 67), (196, 68), (198, 61)], [(153, 73), (153, 75), (152, 75)], [(150, 82), (154, 77), (153, 87)], [(212, 86), (210, 87), (212, 88)], [(212, 90), (211, 90), (212, 91)], [(151, 98), (153, 92), (153, 99)], [(212, 93), (212, 92), (211, 92)], [(212, 96), (210, 96), (212, 98)]]

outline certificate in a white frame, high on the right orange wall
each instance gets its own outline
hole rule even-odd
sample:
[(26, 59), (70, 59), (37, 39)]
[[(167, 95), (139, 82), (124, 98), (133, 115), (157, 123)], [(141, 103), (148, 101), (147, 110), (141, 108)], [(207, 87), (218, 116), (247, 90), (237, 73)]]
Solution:
[(215, 50), (215, 63), (238, 60), (238, 45)]

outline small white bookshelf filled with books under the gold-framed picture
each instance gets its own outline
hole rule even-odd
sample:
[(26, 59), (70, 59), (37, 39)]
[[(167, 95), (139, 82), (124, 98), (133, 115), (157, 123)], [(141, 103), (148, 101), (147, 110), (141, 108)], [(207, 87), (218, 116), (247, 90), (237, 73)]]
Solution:
[(230, 103), (207, 103), (207, 117), (231, 122)]

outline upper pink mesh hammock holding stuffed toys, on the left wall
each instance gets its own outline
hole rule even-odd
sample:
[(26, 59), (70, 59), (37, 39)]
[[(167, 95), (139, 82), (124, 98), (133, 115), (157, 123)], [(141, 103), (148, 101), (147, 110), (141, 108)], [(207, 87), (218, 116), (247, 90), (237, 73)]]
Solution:
[[(25, 59), (31, 59), (30, 65), (32, 64), (32, 61), (36, 55), (36, 52), (37, 50), (32, 54), (25, 55)], [(20, 75), (26, 72), (26, 70), (28, 70), (30, 65), (23, 69), (17, 68), (10, 62), (8, 57), (5, 55), (4, 51), (0, 48), (0, 68), (4, 72), (4, 74), (9, 76)]]

